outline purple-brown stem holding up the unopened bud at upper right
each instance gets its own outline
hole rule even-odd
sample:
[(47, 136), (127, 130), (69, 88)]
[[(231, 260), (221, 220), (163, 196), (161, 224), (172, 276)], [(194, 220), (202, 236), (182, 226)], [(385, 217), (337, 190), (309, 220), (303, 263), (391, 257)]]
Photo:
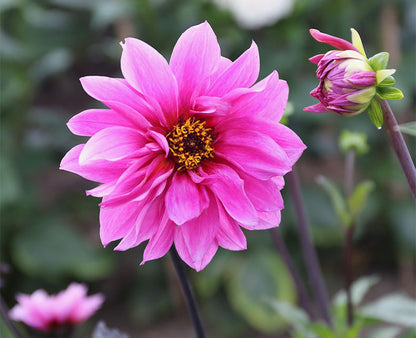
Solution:
[(412, 191), (413, 198), (416, 200), (416, 169), (410, 157), (409, 150), (403, 139), (403, 135), (399, 130), (396, 118), (391, 111), (391, 108), (386, 100), (377, 98), (383, 112), (384, 125), (386, 126), (387, 134), (390, 137), (390, 142), (396, 152), (400, 165), (409, 183), (410, 190)]

